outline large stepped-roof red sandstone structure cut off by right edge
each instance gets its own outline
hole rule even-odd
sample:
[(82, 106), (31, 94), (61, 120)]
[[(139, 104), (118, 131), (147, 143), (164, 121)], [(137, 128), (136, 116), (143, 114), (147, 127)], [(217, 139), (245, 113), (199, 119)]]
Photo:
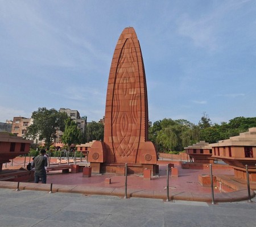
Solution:
[(213, 157), (228, 163), (236, 178), (246, 179), (245, 165), (248, 165), (249, 179), (256, 182), (256, 128), (210, 145)]

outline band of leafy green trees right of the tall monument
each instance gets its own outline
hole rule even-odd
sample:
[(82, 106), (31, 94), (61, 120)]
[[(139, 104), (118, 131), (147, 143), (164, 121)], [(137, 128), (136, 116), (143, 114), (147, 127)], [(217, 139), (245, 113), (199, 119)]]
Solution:
[(188, 145), (200, 140), (210, 144), (238, 136), (249, 128), (256, 127), (256, 117), (235, 117), (228, 123), (212, 124), (207, 113), (201, 117), (198, 125), (178, 119), (163, 119), (156, 121), (149, 128), (148, 138), (154, 142), (158, 151), (181, 151)]

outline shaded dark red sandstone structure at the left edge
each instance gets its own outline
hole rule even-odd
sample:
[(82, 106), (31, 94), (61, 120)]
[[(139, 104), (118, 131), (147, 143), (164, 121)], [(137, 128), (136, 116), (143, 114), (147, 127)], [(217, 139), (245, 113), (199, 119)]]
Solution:
[(3, 163), (10, 162), (10, 159), (20, 154), (30, 152), (32, 140), (24, 140), (22, 137), (10, 136), (9, 133), (0, 132), (0, 171)]

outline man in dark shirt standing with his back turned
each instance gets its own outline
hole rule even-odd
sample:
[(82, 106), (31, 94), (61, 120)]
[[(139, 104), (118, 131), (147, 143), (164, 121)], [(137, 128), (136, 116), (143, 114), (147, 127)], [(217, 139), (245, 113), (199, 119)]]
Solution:
[(41, 178), (42, 183), (46, 184), (46, 169), (47, 166), (47, 158), (44, 157), (46, 154), (46, 150), (40, 150), (40, 155), (36, 156), (34, 159), (34, 163), (32, 163), (31, 167), (35, 166), (35, 183), (39, 182), (39, 178)]

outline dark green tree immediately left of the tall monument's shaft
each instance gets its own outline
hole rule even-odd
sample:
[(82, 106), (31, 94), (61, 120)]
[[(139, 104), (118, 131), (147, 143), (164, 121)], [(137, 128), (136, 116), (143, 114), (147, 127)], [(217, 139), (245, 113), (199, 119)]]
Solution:
[(92, 140), (101, 140), (104, 139), (104, 124), (97, 123), (96, 121), (92, 121), (91, 123), (87, 123), (86, 133), (87, 142)]

